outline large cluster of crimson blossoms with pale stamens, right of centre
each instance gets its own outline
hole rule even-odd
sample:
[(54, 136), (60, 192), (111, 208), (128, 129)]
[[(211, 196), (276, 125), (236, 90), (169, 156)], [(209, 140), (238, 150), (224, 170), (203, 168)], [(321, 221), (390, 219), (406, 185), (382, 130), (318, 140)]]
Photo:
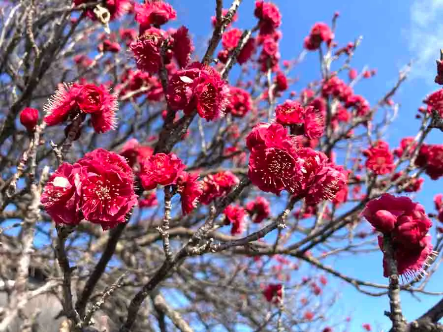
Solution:
[(334, 199), (346, 186), (343, 167), (310, 148), (300, 148), (279, 123), (259, 123), (246, 139), (251, 151), (249, 178), (261, 190), (279, 195), (282, 190), (306, 198), (307, 204)]

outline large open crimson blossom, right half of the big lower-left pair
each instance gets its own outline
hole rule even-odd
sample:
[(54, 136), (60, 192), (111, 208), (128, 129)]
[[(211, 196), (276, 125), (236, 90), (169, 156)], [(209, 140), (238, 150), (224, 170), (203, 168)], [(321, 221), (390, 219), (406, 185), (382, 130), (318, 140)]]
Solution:
[(103, 229), (126, 222), (126, 215), (137, 204), (134, 174), (121, 155), (97, 149), (78, 163), (85, 169), (82, 179), (81, 210), (86, 220)]

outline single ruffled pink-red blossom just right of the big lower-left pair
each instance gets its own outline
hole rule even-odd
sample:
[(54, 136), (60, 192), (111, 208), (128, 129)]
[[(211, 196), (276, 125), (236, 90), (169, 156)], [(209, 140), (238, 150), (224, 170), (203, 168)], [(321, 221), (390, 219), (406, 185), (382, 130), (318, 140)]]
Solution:
[(140, 180), (146, 190), (155, 189), (158, 184), (175, 184), (180, 172), (185, 169), (182, 160), (174, 153), (157, 153), (141, 163)]

